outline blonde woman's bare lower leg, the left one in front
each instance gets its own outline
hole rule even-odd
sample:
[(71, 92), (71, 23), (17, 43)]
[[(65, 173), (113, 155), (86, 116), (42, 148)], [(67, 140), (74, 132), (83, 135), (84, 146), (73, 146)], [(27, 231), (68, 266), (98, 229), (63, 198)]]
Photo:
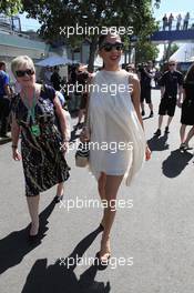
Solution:
[(39, 201), (40, 194), (35, 196), (27, 196), (27, 203), (31, 218), (30, 235), (37, 235), (39, 232)]

